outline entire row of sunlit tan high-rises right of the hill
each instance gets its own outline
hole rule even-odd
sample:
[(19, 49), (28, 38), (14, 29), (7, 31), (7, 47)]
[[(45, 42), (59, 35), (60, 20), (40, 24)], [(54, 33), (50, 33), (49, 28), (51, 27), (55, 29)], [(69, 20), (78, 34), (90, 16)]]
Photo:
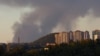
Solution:
[[(96, 35), (96, 36), (95, 36)], [(69, 32), (58, 32), (55, 34), (55, 43), (70, 43), (82, 40), (97, 40), (100, 39), (100, 30), (94, 30), (92, 32), (92, 37), (90, 37), (89, 31), (69, 31)]]

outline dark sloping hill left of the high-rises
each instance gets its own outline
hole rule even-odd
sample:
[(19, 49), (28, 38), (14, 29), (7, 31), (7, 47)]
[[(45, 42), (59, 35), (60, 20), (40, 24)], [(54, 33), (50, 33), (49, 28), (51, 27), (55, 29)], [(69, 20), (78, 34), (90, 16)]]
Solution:
[(34, 41), (33, 45), (45, 46), (46, 43), (55, 43), (55, 34), (56, 33), (51, 33), (51, 34), (48, 34), (48, 35), (46, 35), (44, 37), (41, 37), (40, 39)]

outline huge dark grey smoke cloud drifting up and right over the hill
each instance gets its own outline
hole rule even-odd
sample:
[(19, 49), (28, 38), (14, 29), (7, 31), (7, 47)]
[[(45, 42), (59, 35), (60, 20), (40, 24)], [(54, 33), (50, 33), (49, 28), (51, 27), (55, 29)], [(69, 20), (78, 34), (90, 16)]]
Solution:
[[(46, 35), (61, 23), (66, 30), (74, 28), (77, 17), (84, 17), (89, 9), (100, 16), (100, 0), (0, 0), (12, 7), (35, 8), (35, 11), (22, 16), (21, 23), (14, 24), (14, 39), (21, 37), (22, 42), (31, 42)], [(38, 25), (40, 24), (40, 25)]]

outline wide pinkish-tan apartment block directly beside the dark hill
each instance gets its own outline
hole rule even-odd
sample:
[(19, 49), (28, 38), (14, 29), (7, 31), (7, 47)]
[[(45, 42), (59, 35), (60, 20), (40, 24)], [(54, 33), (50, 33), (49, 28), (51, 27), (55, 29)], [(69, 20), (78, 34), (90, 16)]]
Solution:
[(61, 43), (68, 43), (68, 33), (67, 32), (60, 32), (55, 34), (55, 42), (56, 44), (61, 44)]

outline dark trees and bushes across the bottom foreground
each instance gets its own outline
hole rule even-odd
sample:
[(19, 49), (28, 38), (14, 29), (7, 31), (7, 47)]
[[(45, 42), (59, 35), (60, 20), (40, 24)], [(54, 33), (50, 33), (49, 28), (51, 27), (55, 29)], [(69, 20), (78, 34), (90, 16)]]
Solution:
[(26, 50), (23, 46), (18, 46), (7, 52), (0, 46), (0, 56), (100, 56), (100, 40), (63, 43), (47, 48), (49, 50), (44, 48)]

